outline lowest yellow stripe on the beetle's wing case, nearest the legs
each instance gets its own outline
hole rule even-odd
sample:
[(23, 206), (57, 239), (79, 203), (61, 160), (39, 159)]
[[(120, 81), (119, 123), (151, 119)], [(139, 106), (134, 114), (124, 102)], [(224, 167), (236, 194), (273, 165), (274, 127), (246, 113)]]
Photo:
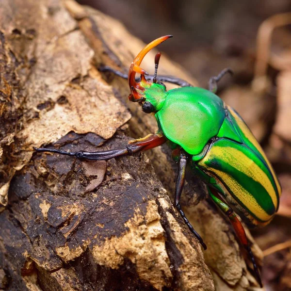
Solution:
[[(200, 165), (203, 160), (201, 160), (198, 164)], [(215, 173), (217, 177), (220, 177), (222, 180), (227, 181), (227, 187), (230, 189), (230, 191), (238, 197), (238, 199), (242, 202), (245, 208), (247, 208), (252, 213), (256, 213), (256, 217), (258, 217), (259, 220), (268, 221), (271, 219), (272, 216), (260, 207), (254, 196), (246, 191), (244, 188), (242, 188), (242, 186), (234, 178), (232, 178), (225, 172), (209, 168), (205, 164), (201, 164), (201, 166), (206, 167), (206, 170)]]

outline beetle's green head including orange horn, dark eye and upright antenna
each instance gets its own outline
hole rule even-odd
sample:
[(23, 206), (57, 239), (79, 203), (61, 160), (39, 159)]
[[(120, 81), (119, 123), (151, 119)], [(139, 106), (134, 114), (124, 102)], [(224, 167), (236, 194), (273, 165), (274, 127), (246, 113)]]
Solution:
[[(160, 53), (155, 58), (156, 70), (153, 82), (147, 81), (145, 75), (148, 73), (140, 67), (146, 54), (157, 45), (161, 44), (172, 35), (165, 35), (155, 39), (136, 56), (129, 68), (129, 100), (138, 102), (143, 107), (145, 113), (157, 112), (162, 108), (162, 103), (167, 95), (166, 87), (162, 83), (156, 83), (156, 72), (160, 60)], [(136, 73), (141, 74), (140, 81), (135, 81)]]

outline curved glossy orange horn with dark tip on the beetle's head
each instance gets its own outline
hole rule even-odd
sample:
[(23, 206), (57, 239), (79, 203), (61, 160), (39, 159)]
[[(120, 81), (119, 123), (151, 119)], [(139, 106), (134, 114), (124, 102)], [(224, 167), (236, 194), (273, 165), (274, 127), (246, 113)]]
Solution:
[[(151, 82), (146, 80), (145, 75), (148, 73), (140, 67), (142, 60), (144, 59), (145, 55), (153, 48), (164, 42), (166, 39), (173, 37), (173, 35), (165, 35), (153, 40), (151, 43), (146, 45), (144, 49), (140, 51), (140, 53), (135, 57), (133, 62), (129, 67), (129, 88), (131, 94), (129, 95), (130, 101), (138, 101), (140, 98), (143, 98), (142, 92), (145, 88), (150, 87)], [(135, 81), (136, 73), (141, 74), (141, 81)]]

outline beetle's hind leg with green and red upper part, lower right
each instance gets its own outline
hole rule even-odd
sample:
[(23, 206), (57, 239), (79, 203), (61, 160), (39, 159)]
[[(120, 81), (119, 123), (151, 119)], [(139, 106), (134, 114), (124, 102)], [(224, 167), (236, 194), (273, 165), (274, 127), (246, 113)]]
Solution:
[(236, 214), (234, 213), (234, 211), (222, 200), (219, 199), (218, 194), (216, 193), (216, 191), (214, 189), (210, 189), (208, 187), (208, 192), (210, 194), (211, 199), (214, 201), (214, 203), (219, 207), (219, 209), (226, 214), (226, 216), (228, 217), (231, 225), (234, 228), (234, 231), (239, 239), (239, 241), (242, 243), (242, 245), (244, 246), (244, 248), (246, 249), (246, 251), (248, 252), (253, 266), (254, 266), (254, 271), (255, 271), (255, 275), (257, 277), (257, 281), (259, 283), (259, 286), (262, 288), (262, 281), (259, 275), (259, 268), (257, 266), (256, 260), (254, 258), (254, 255), (251, 251), (251, 248), (247, 242), (247, 238), (246, 238), (246, 234), (244, 231), (244, 228), (242, 226), (242, 223), (239, 221), (239, 219), (237, 218)]

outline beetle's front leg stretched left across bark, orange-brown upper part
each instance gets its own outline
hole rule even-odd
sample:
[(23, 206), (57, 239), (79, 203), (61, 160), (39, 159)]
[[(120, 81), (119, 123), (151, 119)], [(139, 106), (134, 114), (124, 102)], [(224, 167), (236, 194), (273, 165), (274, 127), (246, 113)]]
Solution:
[(138, 153), (141, 151), (145, 151), (157, 146), (161, 146), (165, 143), (167, 139), (162, 133), (158, 132), (156, 134), (149, 134), (144, 138), (140, 138), (137, 140), (129, 141), (129, 144), (126, 148), (123, 149), (113, 149), (106, 151), (98, 151), (98, 152), (68, 152), (59, 149), (49, 149), (44, 147), (36, 148), (34, 150), (37, 152), (49, 152), (49, 153), (57, 153), (66, 156), (73, 156), (78, 159), (86, 159), (91, 161), (100, 161), (100, 160), (110, 160), (112, 158), (118, 158), (122, 156), (131, 156), (134, 153)]

